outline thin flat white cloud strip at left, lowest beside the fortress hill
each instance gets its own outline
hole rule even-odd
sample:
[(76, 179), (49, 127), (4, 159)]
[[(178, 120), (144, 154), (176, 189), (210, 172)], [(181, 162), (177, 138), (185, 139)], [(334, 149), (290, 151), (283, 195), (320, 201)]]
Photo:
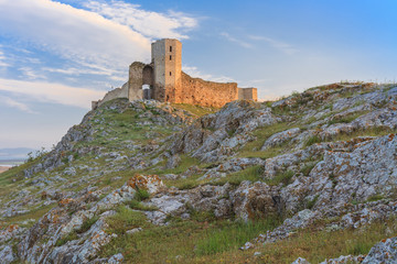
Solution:
[(36, 101), (61, 103), (84, 109), (89, 109), (90, 101), (103, 98), (106, 92), (61, 84), (11, 79), (0, 79), (0, 90), (29, 96)]

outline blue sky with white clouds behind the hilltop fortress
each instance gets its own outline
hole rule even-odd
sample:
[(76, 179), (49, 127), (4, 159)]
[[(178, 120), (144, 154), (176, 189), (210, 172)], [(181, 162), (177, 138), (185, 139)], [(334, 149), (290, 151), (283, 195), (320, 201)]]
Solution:
[(0, 148), (51, 148), (164, 37), (191, 76), (262, 100), (395, 81), (396, 13), (395, 0), (0, 0)]

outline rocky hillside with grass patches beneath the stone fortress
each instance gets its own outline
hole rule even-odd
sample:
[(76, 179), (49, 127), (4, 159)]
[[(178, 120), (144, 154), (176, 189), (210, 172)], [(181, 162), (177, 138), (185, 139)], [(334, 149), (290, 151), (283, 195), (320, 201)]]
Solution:
[(116, 99), (0, 174), (1, 263), (397, 263), (397, 86)]

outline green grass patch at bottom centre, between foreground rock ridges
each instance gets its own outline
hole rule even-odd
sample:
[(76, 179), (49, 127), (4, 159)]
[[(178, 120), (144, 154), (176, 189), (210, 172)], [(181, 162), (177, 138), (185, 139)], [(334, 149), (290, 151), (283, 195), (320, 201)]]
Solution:
[[(118, 237), (101, 248), (100, 256), (122, 253), (126, 263), (196, 263), (201, 257), (236, 251), (248, 240), (279, 223), (278, 218), (243, 223), (210, 221), (211, 213), (203, 216), (202, 219), (197, 217), (200, 221), (174, 219), (169, 226), (161, 227), (148, 223), (138, 211), (120, 207), (117, 215), (107, 220), (107, 232)], [(133, 228), (142, 228), (142, 231), (126, 233)]]

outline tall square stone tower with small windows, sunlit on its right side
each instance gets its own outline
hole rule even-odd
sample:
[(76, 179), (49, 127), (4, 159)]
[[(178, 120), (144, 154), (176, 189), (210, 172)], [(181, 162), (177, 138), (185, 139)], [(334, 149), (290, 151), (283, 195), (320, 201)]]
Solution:
[(179, 102), (182, 92), (182, 43), (163, 38), (151, 45), (154, 74), (153, 99)]

